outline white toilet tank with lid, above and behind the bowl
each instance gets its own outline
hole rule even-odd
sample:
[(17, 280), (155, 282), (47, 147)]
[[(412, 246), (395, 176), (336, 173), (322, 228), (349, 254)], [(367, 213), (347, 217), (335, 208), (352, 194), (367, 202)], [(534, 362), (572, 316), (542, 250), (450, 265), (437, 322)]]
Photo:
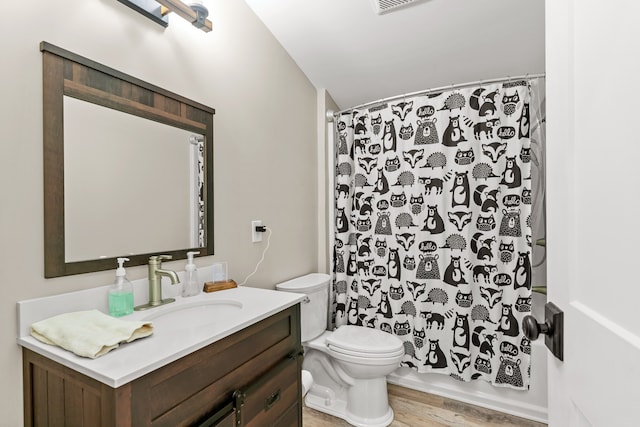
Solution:
[(309, 301), (301, 303), (301, 339), (311, 341), (327, 329), (330, 277), (324, 273), (311, 273), (278, 283), (276, 289), (306, 294)]

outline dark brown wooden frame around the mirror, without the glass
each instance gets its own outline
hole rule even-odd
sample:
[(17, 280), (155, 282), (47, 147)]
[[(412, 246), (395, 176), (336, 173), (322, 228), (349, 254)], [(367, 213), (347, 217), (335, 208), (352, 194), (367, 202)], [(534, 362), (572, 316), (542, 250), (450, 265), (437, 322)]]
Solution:
[[(44, 276), (115, 269), (116, 257), (78, 262), (65, 259), (64, 96), (204, 135), (204, 247), (158, 248), (153, 253), (122, 255), (128, 266), (147, 264), (151, 255), (185, 259), (187, 252), (213, 255), (213, 115), (215, 110), (90, 59), (40, 43), (43, 54)], [(141, 189), (141, 191), (144, 191)]]

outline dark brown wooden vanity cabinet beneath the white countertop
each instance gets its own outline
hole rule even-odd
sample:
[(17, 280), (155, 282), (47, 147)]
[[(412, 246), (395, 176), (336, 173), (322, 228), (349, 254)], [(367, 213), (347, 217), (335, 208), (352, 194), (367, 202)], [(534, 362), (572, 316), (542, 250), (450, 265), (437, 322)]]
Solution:
[(118, 388), (23, 348), (24, 424), (302, 426), (301, 349), (299, 304)]

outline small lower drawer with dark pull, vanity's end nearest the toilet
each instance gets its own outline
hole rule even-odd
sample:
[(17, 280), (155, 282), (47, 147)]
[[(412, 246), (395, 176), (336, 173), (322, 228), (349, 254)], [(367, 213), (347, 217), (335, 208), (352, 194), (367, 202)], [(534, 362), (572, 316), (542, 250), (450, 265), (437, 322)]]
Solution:
[(286, 358), (267, 374), (244, 389), (236, 391), (236, 411), (239, 425), (263, 427), (278, 424), (292, 406), (298, 393), (298, 361)]

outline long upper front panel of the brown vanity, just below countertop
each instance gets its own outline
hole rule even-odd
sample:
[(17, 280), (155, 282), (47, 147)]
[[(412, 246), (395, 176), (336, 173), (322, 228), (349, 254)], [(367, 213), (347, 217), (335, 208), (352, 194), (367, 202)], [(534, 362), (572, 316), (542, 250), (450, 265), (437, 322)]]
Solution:
[(299, 349), (297, 310), (274, 314), (136, 380), (133, 426), (188, 426), (225, 404), (234, 390), (266, 375)]

